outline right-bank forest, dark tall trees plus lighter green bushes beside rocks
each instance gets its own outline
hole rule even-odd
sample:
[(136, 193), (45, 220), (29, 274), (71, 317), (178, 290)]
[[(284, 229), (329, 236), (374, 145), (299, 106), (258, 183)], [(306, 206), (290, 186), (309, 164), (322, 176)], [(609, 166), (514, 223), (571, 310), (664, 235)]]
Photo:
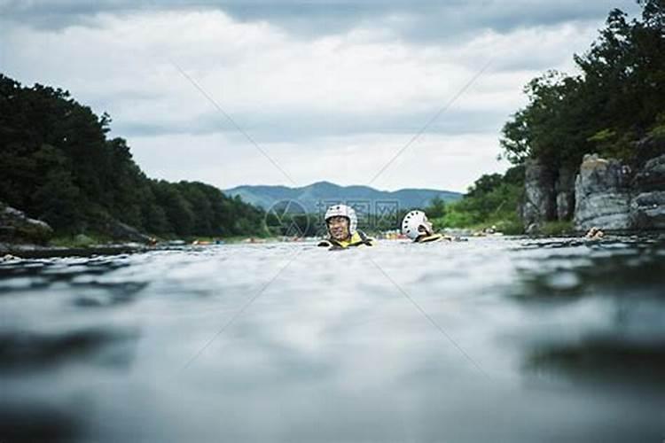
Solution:
[[(500, 140), (501, 157), (514, 166), (505, 175), (482, 175), (456, 203), (428, 208), (435, 226), (521, 232), (528, 160), (557, 181), (559, 171), (577, 170), (591, 152), (633, 167), (665, 153), (665, 1), (638, 4), (639, 18), (609, 12), (589, 50), (574, 55), (579, 74), (548, 71), (528, 82), (528, 105), (505, 123)], [(553, 224), (566, 226), (570, 217), (569, 210)]]

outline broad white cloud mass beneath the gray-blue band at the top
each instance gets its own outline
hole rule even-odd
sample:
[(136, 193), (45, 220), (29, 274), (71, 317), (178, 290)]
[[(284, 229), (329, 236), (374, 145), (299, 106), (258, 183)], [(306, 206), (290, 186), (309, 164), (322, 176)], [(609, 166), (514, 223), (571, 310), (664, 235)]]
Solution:
[[(6, 74), (70, 89), (96, 112), (111, 113), (115, 127), (156, 128), (154, 136), (118, 134), (129, 139), (148, 174), (231, 187), (288, 182), (232, 133), (223, 115), (211, 118), (214, 106), (171, 60), (250, 134), (283, 131), (270, 126), (271, 116), (279, 116), (280, 124), (293, 121), (295, 132), (311, 115), (348, 120), (345, 128), (361, 117), (376, 121), (367, 134), (362, 128), (355, 135), (337, 134), (324, 122), (306, 140), (262, 143), (299, 184), (366, 183), (412, 135), (390, 128), (377, 134), (382, 121), (388, 125), (395, 115), (408, 120), (433, 114), (488, 60), (489, 70), (442, 120), (461, 112), (507, 118), (524, 104), (522, 86), (547, 68), (572, 69), (572, 53), (583, 51), (599, 26), (575, 22), (507, 34), (489, 30), (453, 44), (405, 41), (379, 26), (390, 20), (363, 23), (307, 39), (265, 20), (240, 22), (221, 11), (123, 12), (98, 14), (85, 26), (59, 31), (6, 22), (0, 38)], [(442, 120), (431, 128), (442, 128)], [(414, 132), (425, 121), (413, 121)], [(464, 190), (482, 173), (506, 167), (496, 161), (501, 123), (497, 120), (490, 132), (470, 121), (456, 136), (426, 135), (376, 184)], [(210, 128), (159, 134), (160, 128), (203, 126)]]

